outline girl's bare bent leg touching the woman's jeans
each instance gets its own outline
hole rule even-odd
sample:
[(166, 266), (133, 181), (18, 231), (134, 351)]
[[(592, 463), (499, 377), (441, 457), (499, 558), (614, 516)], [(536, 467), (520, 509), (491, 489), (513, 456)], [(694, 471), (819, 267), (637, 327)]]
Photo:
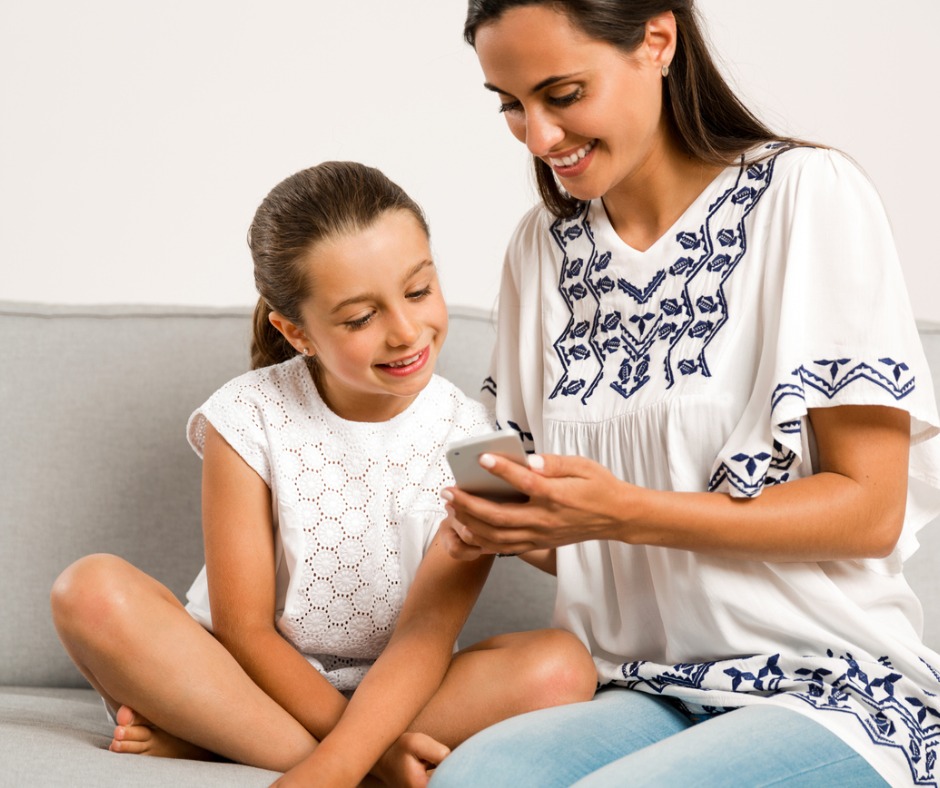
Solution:
[(458, 652), (412, 729), (448, 747), (509, 717), (590, 699), (594, 661), (559, 629), (515, 632)]

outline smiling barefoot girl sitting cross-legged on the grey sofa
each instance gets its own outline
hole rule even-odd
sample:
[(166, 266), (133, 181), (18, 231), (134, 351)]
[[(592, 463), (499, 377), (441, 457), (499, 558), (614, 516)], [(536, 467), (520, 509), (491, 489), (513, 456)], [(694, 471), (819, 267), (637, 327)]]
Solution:
[(188, 605), (90, 556), (55, 584), (56, 627), (116, 752), (423, 785), (474, 731), (590, 697), (594, 667), (551, 630), (453, 654), (491, 559), (436, 535), (443, 449), (490, 416), (433, 375), (447, 311), (418, 206), (328, 162), (272, 190), (249, 243), (254, 371), (188, 427), (206, 556)]

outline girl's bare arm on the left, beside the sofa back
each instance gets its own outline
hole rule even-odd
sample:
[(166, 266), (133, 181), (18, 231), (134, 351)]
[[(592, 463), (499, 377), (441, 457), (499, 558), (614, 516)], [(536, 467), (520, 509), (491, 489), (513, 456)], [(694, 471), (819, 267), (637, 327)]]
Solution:
[(261, 689), (322, 740), (346, 699), (275, 628), (271, 493), (211, 424), (202, 508), (213, 634)]

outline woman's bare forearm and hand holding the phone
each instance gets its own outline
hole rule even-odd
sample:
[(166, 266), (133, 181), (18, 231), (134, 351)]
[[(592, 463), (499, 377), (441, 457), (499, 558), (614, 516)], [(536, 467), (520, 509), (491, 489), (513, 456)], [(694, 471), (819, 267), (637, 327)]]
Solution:
[(499, 505), (448, 488), (450, 525), (500, 553), (610, 539), (760, 561), (888, 555), (904, 522), (909, 414), (852, 405), (809, 417), (817, 472), (756, 498), (646, 490), (578, 457), (546, 455), (540, 471), (493, 457), (492, 472), (530, 501)]

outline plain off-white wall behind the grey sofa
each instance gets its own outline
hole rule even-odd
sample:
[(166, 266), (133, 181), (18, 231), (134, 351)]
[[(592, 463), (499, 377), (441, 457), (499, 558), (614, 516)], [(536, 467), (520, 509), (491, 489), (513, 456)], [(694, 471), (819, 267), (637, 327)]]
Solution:
[[(699, 0), (771, 125), (851, 153), (940, 320), (936, 0)], [(0, 298), (254, 302), (245, 230), (284, 176), (381, 167), (425, 207), (452, 302), (490, 307), (535, 200), (460, 0), (0, 0)]]

